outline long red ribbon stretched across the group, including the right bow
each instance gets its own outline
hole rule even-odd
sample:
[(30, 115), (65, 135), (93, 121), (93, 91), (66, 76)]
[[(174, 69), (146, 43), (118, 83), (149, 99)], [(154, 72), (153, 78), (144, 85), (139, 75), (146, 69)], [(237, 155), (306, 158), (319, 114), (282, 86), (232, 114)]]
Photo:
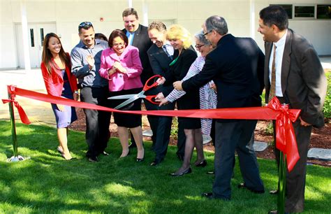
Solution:
[[(281, 106), (278, 99), (274, 97), (267, 107), (250, 107), (250, 108), (218, 108), (218, 109), (199, 109), (199, 110), (116, 110), (94, 104), (87, 104), (72, 99), (54, 97), (48, 94), (41, 94), (15, 87), (15, 90), (8, 92), (14, 95), (20, 95), (30, 99), (45, 101), (52, 104), (62, 104), (78, 108), (89, 108), (95, 110), (105, 110), (109, 112), (131, 113), (138, 115), (162, 115), (177, 117), (196, 117), (196, 118), (213, 118), (213, 119), (240, 119), (240, 120), (277, 120), (276, 126), (276, 146), (283, 151), (288, 158), (288, 171), (299, 159), (297, 154), (297, 143), (292, 123), (297, 120), (300, 114), (298, 109), (288, 109), (288, 106)], [(23, 121), (22, 121), (23, 122)]]

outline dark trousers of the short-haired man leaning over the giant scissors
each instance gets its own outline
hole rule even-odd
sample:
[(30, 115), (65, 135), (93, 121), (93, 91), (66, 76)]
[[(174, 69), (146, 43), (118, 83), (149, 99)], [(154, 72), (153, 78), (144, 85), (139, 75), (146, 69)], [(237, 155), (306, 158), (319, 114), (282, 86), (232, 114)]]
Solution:
[[(159, 107), (159, 110), (174, 110), (175, 103), (170, 103)], [(167, 154), (168, 144), (170, 141), (172, 117), (159, 116), (157, 126), (157, 135), (154, 145), (155, 159), (161, 161)], [(186, 136), (184, 128), (178, 127), (177, 155), (184, 157)]]

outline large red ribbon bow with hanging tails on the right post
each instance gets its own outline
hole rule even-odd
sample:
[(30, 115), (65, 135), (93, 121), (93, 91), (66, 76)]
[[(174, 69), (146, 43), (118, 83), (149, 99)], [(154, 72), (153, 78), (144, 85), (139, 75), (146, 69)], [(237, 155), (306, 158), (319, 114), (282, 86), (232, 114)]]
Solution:
[(297, 120), (301, 110), (289, 109), (288, 105), (281, 105), (277, 97), (274, 97), (267, 107), (279, 112), (276, 118), (276, 148), (284, 152), (288, 171), (292, 171), (297, 160), (300, 159), (292, 122)]

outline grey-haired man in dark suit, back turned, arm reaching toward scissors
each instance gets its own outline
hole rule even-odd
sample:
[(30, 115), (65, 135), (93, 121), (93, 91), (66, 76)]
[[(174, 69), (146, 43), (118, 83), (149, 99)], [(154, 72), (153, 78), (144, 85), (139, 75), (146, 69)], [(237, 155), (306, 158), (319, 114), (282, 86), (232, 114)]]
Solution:
[[(263, 90), (264, 55), (251, 38), (236, 38), (228, 34), (223, 17), (207, 18), (203, 25), (205, 37), (214, 50), (205, 59), (203, 70), (177, 89), (189, 91), (214, 80), (217, 87), (217, 108), (260, 106)], [(244, 187), (263, 193), (255, 152), (249, 147), (257, 120), (216, 120), (215, 180), (212, 192), (203, 197), (230, 200), (230, 180), (235, 151), (240, 161)]]

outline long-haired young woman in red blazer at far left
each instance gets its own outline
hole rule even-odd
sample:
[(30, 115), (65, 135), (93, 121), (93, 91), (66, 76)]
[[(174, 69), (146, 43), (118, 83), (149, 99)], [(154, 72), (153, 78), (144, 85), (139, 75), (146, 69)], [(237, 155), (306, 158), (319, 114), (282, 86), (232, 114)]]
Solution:
[[(44, 38), (41, 73), (47, 94), (78, 100), (77, 80), (71, 74), (70, 56), (64, 52), (57, 34), (50, 33)], [(77, 120), (75, 108), (52, 104), (52, 110), (57, 121), (57, 137), (59, 138), (57, 150), (64, 159), (72, 159), (68, 150), (67, 135), (68, 126)]]

